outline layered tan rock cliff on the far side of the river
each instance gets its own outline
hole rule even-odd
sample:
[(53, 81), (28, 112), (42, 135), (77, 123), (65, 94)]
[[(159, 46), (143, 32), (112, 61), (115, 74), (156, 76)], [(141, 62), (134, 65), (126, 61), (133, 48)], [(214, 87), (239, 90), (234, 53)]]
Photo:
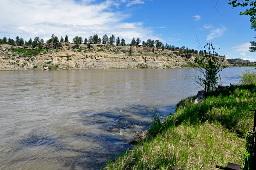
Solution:
[[(32, 56), (16, 50), (37, 48), (0, 45), (0, 70), (184, 68), (198, 65), (202, 58), (143, 45), (51, 43)], [(229, 65), (225, 57), (218, 57), (218, 62)]]

